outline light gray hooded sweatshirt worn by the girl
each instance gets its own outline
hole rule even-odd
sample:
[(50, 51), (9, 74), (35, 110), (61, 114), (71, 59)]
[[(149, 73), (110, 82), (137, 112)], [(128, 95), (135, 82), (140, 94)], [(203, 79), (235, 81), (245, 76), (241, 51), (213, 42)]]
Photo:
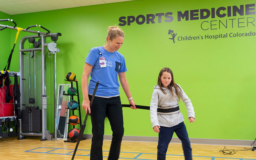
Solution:
[[(179, 85), (180, 86), (180, 85)], [(173, 127), (177, 124), (180, 124), (184, 121), (183, 115), (181, 112), (178, 111), (178, 113), (175, 114), (158, 114), (157, 108), (160, 107), (169, 107), (174, 106), (177, 107), (178, 105), (178, 96), (175, 94), (175, 87), (172, 87), (172, 90), (174, 92), (174, 98), (172, 99), (172, 94), (170, 90), (165, 89), (162, 87), (167, 94), (164, 94), (159, 85), (156, 85), (154, 87), (154, 91), (152, 94), (152, 99), (150, 102), (150, 117), (151, 117), (151, 123), (152, 127), (154, 126), (164, 126), (164, 127)], [(182, 90), (182, 89), (181, 89)], [(192, 103), (188, 96), (185, 94), (185, 92), (182, 90), (182, 96), (180, 96), (181, 100), (185, 103), (187, 112), (188, 112), (188, 118), (194, 117), (194, 108), (192, 106)], [(173, 107), (173, 108), (174, 108)], [(172, 108), (172, 107), (170, 107)]]

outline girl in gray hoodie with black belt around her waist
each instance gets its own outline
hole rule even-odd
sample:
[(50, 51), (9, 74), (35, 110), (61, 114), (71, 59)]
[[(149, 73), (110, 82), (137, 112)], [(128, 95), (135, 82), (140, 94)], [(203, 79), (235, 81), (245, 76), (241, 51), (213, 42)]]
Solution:
[(174, 82), (170, 68), (163, 68), (158, 76), (158, 85), (154, 87), (150, 102), (150, 117), (153, 129), (158, 132), (158, 160), (165, 160), (168, 145), (175, 132), (182, 142), (185, 160), (192, 160), (192, 149), (184, 118), (178, 101), (185, 103), (189, 122), (194, 122), (194, 108), (180, 85)]

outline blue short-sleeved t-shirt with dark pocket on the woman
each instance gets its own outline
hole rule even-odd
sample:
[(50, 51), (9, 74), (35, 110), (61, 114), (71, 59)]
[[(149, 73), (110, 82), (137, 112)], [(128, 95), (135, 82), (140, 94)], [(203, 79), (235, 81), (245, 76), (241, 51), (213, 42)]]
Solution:
[[(101, 53), (101, 54), (100, 54)], [(112, 57), (113, 55), (113, 57)], [(100, 66), (100, 57), (105, 57), (106, 67)], [(122, 54), (117, 51), (108, 52), (103, 46), (94, 47), (89, 51), (85, 63), (92, 65), (88, 93), (93, 94), (96, 82), (99, 81), (96, 96), (119, 95), (118, 73), (125, 72), (126, 64)]]

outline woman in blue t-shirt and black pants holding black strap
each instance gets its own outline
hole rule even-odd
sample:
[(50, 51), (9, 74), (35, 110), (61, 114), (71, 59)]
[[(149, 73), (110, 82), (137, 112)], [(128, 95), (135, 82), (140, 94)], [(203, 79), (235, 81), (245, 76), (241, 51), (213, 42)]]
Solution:
[[(105, 115), (107, 115), (113, 131), (108, 159), (117, 160), (119, 158), (124, 128), (118, 77), (131, 105), (130, 108), (137, 109), (126, 79), (127, 69), (124, 57), (117, 52), (123, 42), (124, 32), (122, 29), (118, 26), (109, 26), (105, 46), (92, 48), (85, 60), (81, 81), (82, 108), (86, 114), (90, 113), (91, 115), (91, 160), (102, 160)], [(89, 76), (91, 79), (88, 85)], [(100, 83), (90, 108), (90, 100), (97, 81)]]

